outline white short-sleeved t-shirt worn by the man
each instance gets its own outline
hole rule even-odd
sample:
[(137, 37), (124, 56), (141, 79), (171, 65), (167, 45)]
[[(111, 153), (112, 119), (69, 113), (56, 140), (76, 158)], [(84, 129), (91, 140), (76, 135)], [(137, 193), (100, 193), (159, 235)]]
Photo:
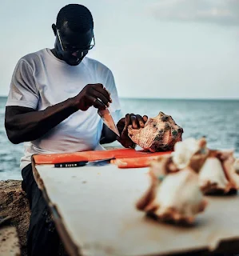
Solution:
[[(110, 112), (118, 122), (120, 104), (112, 72), (102, 63), (85, 57), (78, 66), (59, 60), (50, 49), (28, 54), (18, 61), (10, 84), (6, 106), (26, 106), (45, 110), (67, 98), (76, 96), (87, 85), (102, 83), (110, 91)], [(31, 161), (32, 154), (50, 154), (100, 150), (102, 119), (97, 109), (78, 110), (47, 134), (32, 142), (25, 142), (21, 169)]]

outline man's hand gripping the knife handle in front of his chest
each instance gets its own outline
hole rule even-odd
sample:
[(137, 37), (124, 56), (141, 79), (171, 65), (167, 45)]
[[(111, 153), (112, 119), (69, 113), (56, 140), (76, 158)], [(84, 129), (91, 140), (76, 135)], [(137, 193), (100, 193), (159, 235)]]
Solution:
[(78, 110), (86, 111), (90, 106), (104, 110), (110, 106), (112, 99), (110, 93), (101, 83), (89, 84), (73, 98), (74, 105)]

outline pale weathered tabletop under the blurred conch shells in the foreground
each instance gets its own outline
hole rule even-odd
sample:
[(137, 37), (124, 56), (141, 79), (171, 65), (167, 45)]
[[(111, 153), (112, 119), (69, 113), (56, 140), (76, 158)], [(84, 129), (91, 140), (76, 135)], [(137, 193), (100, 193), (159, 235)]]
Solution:
[[(34, 166), (34, 164), (33, 164)], [(152, 256), (239, 251), (239, 197), (208, 197), (193, 226), (156, 222), (136, 210), (148, 168), (34, 166), (34, 177), (70, 255)]]

